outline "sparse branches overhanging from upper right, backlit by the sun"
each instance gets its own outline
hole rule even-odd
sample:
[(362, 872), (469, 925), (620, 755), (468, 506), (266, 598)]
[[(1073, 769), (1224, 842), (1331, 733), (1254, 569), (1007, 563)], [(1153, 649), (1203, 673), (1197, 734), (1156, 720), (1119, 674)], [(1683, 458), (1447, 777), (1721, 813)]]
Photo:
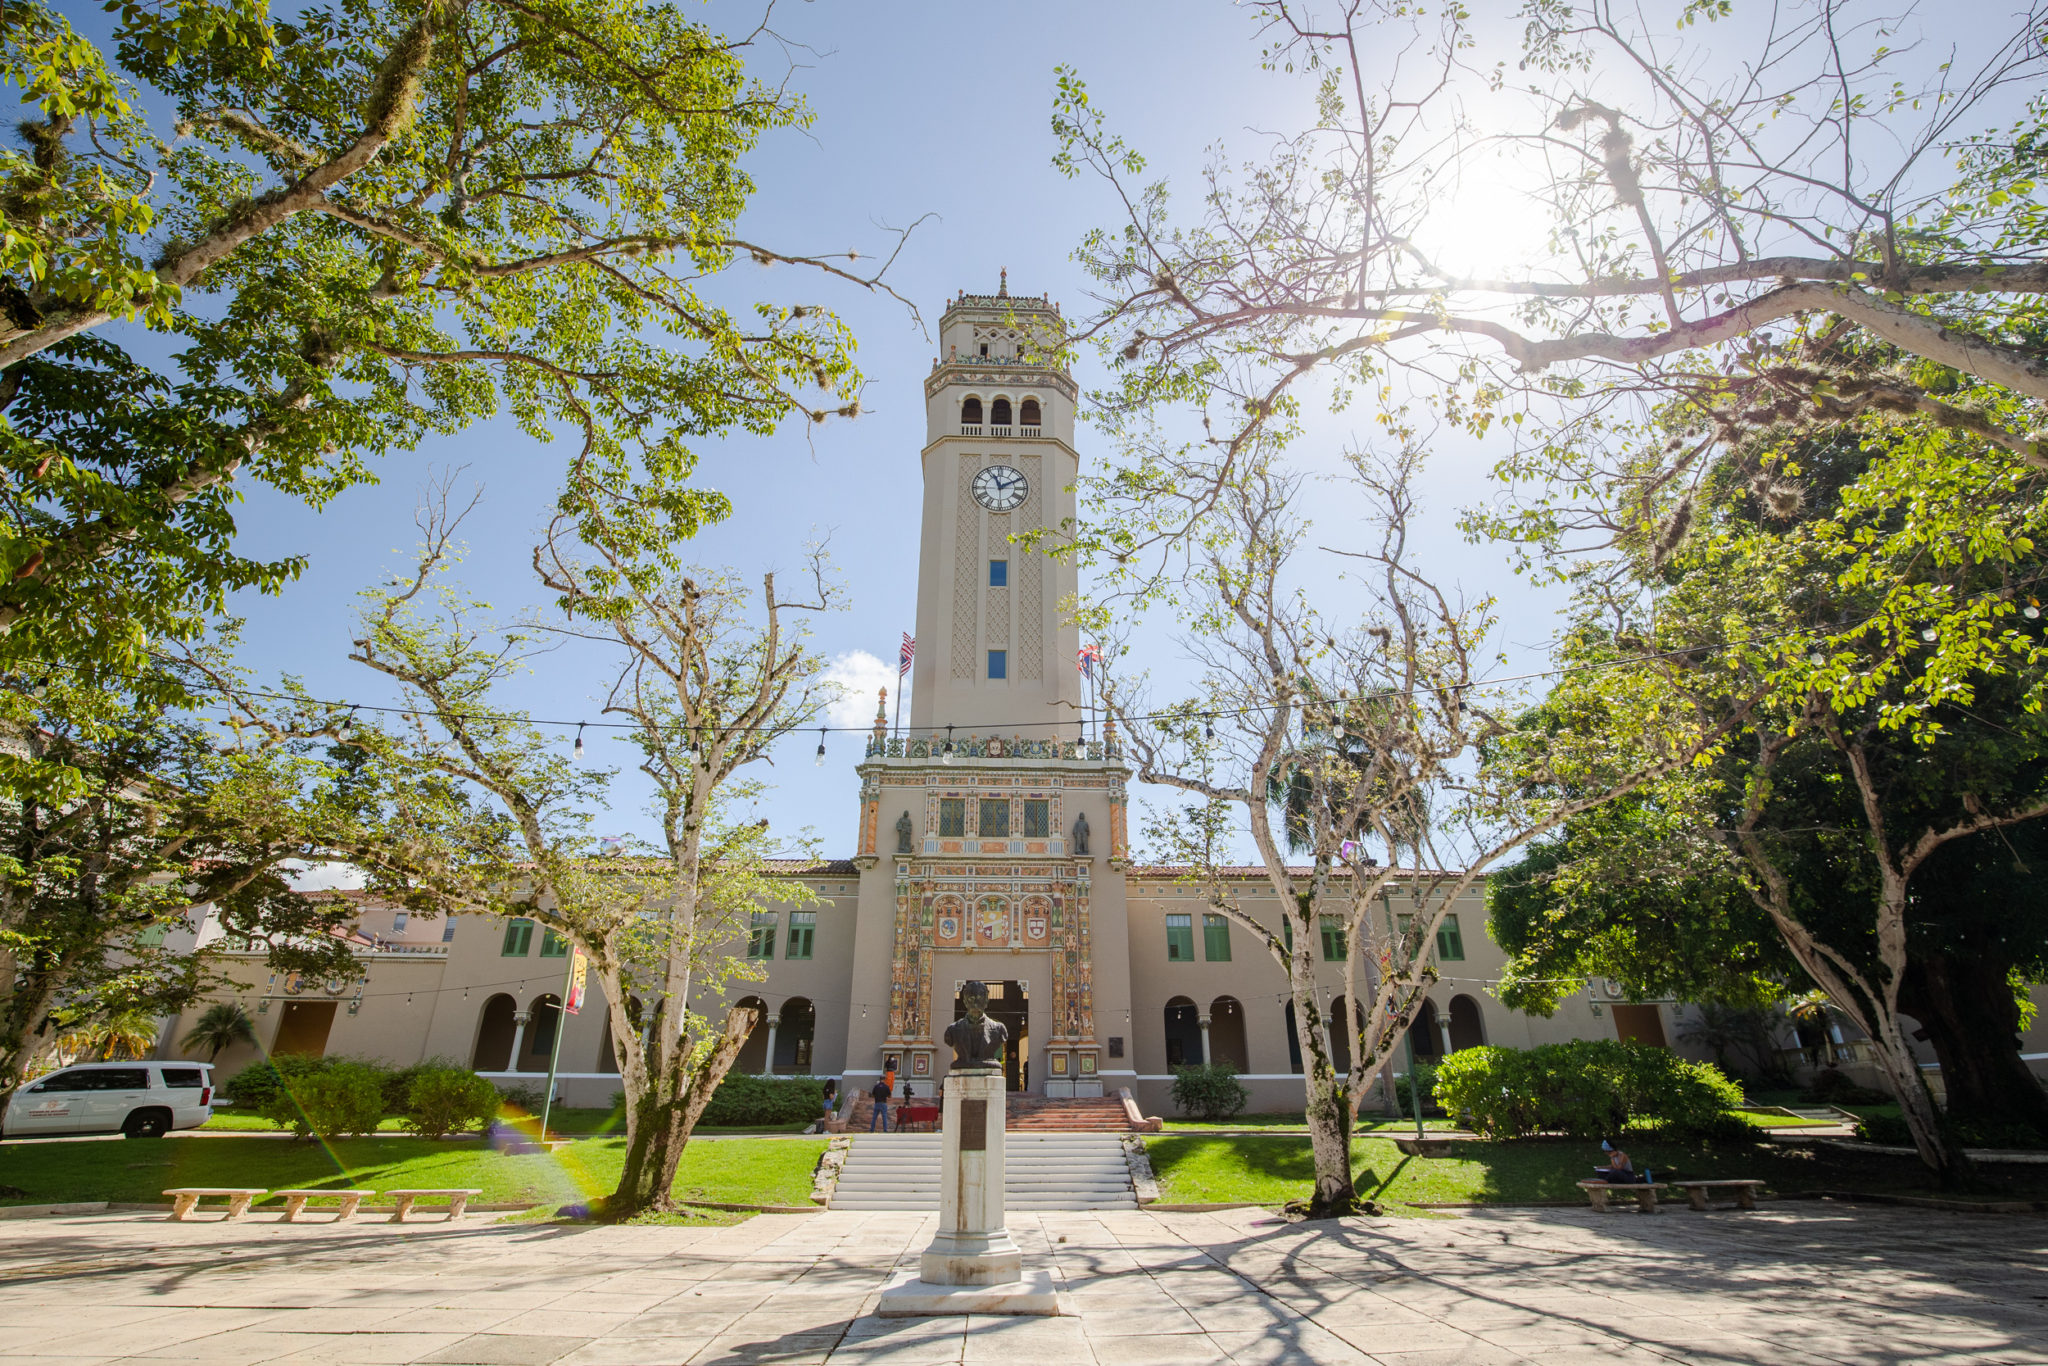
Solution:
[[(1606, 0), (1542, 0), (1520, 43), (1460, 6), (1247, 8), (1262, 63), (1313, 82), (1313, 123), (1235, 170), (1219, 154), (1194, 217), (1061, 74), (1057, 164), (1122, 207), (1083, 240), (1100, 309), (1077, 336), (1120, 358), (1098, 397), (1124, 430), (1196, 399), (1196, 440), (1227, 473), (1292, 430), (1311, 379), (1348, 403), (1407, 373), (1448, 420), (1505, 422), (1503, 471), (1536, 481), (1688, 479), (1710, 438), (1645, 442), (1624, 471), (1608, 459), (1618, 428), (1673, 399), (1909, 412), (2048, 467), (2048, 100), (2001, 127), (2048, 72), (2040, 6), (1950, 33), (1960, 51), (1843, 0), (1755, 16), (1700, 2), (1673, 33)], [(1526, 272), (1452, 258), (1460, 195), (1487, 182), (1546, 219)], [(1155, 537), (1190, 535), (1221, 489), (1176, 496)], [(1569, 510), (1538, 494), (1522, 512), (1552, 535)]]

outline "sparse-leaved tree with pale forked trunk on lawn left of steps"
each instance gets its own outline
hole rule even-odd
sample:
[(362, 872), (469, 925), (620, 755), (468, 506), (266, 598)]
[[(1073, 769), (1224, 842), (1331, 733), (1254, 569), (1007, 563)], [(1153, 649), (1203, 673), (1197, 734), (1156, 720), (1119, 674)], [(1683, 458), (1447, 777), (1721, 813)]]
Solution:
[[(406, 688), (412, 717), (403, 733), (360, 723), (350, 731), (350, 745), (410, 774), (385, 817), (406, 836), (360, 852), (371, 885), (412, 905), (532, 917), (584, 948), (604, 983), (627, 1092), (612, 1219), (672, 1208), (690, 1130), (760, 1022), (756, 1008), (709, 1018), (692, 1001), (758, 977), (735, 952), (756, 905), (811, 899), (801, 883), (768, 874), (766, 821), (733, 817), (760, 791), (735, 774), (836, 696), (821, 678), (825, 659), (791, 614), (840, 600), (821, 551), (811, 559), (815, 596), (803, 602), (778, 594), (772, 573), (756, 602), (727, 573), (674, 569), (670, 547), (641, 537), (639, 512), (559, 514), (535, 553), (557, 614), (492, 631), (481, 604), (438, 582), (461, 514), (436, 496), (422, 512), (418, 571), (367, 594), (352, 653)], [(578, 524), (602, 530), (578, 545)], [(432, 612), (420, 610), (422, 598)], [(602, 854), (588, 823), (608, 774), (565, 760), (522, 713), (492, 700), (549, 633), (621, 649), (606, 715), (627, 719), (655, 782), (662, 844), (651, 858)], [(260, 715), (254, 698), (242, 702)], [(344, 721), (301, 700), (260, 725), (338, 733)]]

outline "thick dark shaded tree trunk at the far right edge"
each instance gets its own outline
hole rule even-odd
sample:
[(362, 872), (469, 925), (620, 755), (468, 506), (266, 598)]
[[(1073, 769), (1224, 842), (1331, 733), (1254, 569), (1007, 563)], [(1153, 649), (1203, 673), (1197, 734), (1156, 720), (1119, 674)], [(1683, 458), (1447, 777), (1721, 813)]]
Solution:
[(2048, 1092), (2019, 1057), (2019, 1004), (2005, 963), (1995, 954), (1915, 954), (1898, 1008), (1927, 1028), (1952, 1124), (2023, 1124), (2048, 1137)]

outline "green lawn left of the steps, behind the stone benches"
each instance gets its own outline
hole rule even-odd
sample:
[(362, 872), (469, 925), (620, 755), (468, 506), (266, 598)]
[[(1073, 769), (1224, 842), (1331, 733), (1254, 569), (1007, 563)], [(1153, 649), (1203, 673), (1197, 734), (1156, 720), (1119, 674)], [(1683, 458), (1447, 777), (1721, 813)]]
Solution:
[[(729, 1204), (807, 1204), (825, 1139), (692, 1143), (676, 1194)], [(25, 1194), (4, 1204), (162, 1200), (168, 1186), (477, 1188), (485, 1204), (578, 1204), (604, 1196), (625, 1163), (623, 1139), (584, 1139), (555, 1153), (494, 1153), (477, 1139), (156, 1139), (0, 1145), (0, 1184)]]

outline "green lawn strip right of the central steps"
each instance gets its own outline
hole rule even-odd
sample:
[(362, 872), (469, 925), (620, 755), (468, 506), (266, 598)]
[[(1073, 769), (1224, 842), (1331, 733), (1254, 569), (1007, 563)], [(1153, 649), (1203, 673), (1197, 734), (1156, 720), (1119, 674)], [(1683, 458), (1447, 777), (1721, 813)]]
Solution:
[[(1309, 1141), (1280, 1135), (1241, 1139), (1165, 1135), (1145, 1141), (1159, 1198), (1169, 1204), (1282, 1204), (1309, 1194), (1313, 1161)], [(1898, 1157), (1772, 1149), (1630, 1143), (1636, 1167), (1696, 1178), (1761, 1178), (1776, 1192), (1855, 1190), (1921, 1192), (1919, 1163)], [(1352, 1169), (1362, 1196), (1382, 1200), (1397, 1214), (1407, 1200), (1475, 1200), (1528, 1204), (1581, 1200), (1579, 1180), (1599, 1165), (1597, 1143), (1534, 1139), (1522, 1143), (1468, 1141), (1452, 1157), (1405, 1157), (1389, 1139), (1356, 1139)], [(1985, 1198), (2048, 1198), (2048, 1171), (2036, 1167), (1985, 1167)]]

